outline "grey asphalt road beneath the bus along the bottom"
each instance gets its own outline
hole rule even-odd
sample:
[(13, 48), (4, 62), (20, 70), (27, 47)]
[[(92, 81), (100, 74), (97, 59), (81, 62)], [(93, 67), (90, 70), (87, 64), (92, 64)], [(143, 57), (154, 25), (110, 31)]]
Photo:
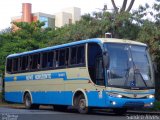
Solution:
[(79, 114), (75, 111), (53, 111), (40, 108), (26, 110), (24, 108), (0, 107), (0, 120), (160, 120), (160, 114), (128, 112), (123, 116), (112, 112), (95, 110), (90, 114)]

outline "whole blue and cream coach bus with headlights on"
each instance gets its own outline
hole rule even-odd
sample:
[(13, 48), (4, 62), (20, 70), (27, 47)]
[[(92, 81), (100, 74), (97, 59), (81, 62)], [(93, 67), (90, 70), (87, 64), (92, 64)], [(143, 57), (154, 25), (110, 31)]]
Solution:
[(136, 41), (93, 38), (6, 58), (5, 100), (27, 109), (53, 105), (124, 114), (153, 107), (154, 93), (148, 47)]

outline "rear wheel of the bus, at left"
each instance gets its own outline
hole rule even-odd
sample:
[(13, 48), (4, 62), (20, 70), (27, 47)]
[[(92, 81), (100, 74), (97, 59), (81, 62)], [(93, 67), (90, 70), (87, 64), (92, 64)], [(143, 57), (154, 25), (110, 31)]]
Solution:
[(32, 101), (31, 101), (31, 96), (29, 93), (26, 93), (24, 96), (24, 104), (25, 104), (26, 109), (32, 108)]

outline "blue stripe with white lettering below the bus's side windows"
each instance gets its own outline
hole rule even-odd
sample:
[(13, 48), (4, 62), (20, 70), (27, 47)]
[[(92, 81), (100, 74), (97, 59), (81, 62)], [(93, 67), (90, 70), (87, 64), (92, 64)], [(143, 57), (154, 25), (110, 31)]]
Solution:
[(5, 77), (5, 82), (24, 81), (24, 80), (44, 80), (44, 79), (63, 79), (63, 80), (89, 80), (88, 78), (67, 78), (66, 72), (29, 74), (22, 76)]

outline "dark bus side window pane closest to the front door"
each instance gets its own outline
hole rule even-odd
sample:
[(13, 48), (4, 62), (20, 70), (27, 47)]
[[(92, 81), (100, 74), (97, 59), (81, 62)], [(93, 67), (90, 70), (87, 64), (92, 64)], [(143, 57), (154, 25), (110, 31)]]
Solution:
[(77, 64), (83, 64), (85, 61), (84, 46), (79, 46), (77, 51)]

